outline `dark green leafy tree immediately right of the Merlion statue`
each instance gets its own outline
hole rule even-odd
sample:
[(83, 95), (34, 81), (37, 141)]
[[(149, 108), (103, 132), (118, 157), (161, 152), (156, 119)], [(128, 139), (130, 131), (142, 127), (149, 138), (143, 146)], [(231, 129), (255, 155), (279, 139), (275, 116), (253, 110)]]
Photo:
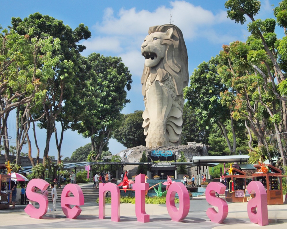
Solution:
[[(217, 73), (217, 65), (218, 57), (198, 65), (190, 76), (190, 86), (184, 89), (184, 97), (188, 100), (187, 106), (194, 110), (201, 129), (210, 129), (214, 123), (217, 124), (230, 152), (235, 153), (236, 135), (232, 110), (221, 103), (220, 93), (226, 91), (227, 87)], [(232, 126), (232, 145), (225, 125), (228, 119)]]

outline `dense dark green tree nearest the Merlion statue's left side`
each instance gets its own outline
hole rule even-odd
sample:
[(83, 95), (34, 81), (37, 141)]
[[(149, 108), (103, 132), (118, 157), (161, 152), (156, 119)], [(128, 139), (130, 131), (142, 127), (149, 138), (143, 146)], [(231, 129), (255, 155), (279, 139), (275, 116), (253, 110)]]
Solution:
[(86, 96), (80, 101), (83, 112), (73, 128), (91, 139), (91, 160), (96, 161), (121, 123), (120, 112), (130, 102), (126, 89), (130, 90), (132, 78), (119, 57), (92, 53), (87, 69)]

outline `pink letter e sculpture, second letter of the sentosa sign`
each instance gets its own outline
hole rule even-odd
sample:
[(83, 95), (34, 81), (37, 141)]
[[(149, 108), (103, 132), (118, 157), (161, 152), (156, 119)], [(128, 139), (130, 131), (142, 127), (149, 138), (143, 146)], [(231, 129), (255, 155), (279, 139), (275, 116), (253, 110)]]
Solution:
[[(74, 194), (74, 197), (70, 197), (71, 192)], [(84, 194), (80, 186), (77, 184), (67, 184), (61, 194), (61, 207), (66, 217), (68, 219), (76, 219), (76, 217), (82, 212), (79, 205), (84, 204)], [(71, 208), (70, 205), (76, 206)]]

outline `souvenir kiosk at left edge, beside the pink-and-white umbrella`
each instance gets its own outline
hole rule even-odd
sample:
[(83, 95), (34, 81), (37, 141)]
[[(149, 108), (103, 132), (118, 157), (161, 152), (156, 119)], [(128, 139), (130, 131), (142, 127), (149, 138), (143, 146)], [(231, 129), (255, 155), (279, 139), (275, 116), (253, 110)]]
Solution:
[[(0, 167), (2, 169), (5, 168), (5, 164), (0, 164)], [(7, 174), (0, 174), (0, 181), (1, 181), (1, 193), (0, 193), (0, 209), (6, 209), (9, 208), (9, 205), (11, 204), (12, 200), (12, 192), (10, 190), (10, 181), (11, 181), (11, 175)]]

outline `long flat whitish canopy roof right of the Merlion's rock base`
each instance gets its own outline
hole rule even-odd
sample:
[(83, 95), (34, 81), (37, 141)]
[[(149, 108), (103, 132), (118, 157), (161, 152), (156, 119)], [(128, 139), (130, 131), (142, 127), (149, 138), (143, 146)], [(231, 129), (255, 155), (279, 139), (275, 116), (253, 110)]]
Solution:
[(194, 156), (192, 158), (193, 163), (222, 163), (222, 162), (247, 162), (248, 155), (231, 155), (231, 156)]

